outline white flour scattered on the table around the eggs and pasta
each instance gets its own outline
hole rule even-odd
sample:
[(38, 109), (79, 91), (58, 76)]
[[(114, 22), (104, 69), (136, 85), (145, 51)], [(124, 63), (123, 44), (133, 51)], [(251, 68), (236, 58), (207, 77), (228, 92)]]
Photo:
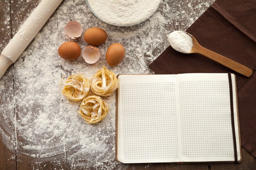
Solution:
[[(20, 3), (31, 2), (34, 1)], [(61, 167), (65, 161), (74, 170), (79, 167), (125, 169), (127, 164), (114, 160), (115, 93), (103, 98), (110, 106), (108, 116), (99, 124), (85, 124), (76, 113), (79, 102), (70, 103), (61, 95), (61, 77), (83, 73), (90, 78), (104, 65), (116, 74), (153, 74), (148, 64), (169, 46), (166, 35), (188, 28), (192, 24), (190, 18), (196, 20), (211, 2), (213, 0), (199, 0), (201, 7), (192, 10), (183, 2), (162, 0), (157, 11), (145, 22), (117, 27), (95, 17), (84, 0), (63, 0), (13, 68), (0, 80), (0, 136), (3, 143), (11, 150), (15, 150), (17, 144), (18, 152), (29, 157), (34, 169), (42, 169), (44, 161), (52, 161), (56, 167)], [(190, 11), (193, 16), (182, 11)], [(58, 46), (63, 42), (75, 41), (82, 49), (88, 46), (83, 36), (78, 40), (65, 36), (63, 29), (69, 20), (80, 22), (84, 31), (100, 27), (108, 33), (105, 44), (98, 46), (101, 57), (97, 63), (86, 64), (81, 56), (72, 62), (58, 56)], [(124, 45), (126, 56), (118, 66), (111, 67), (106, 63), (105, 54), (108, 46), (116, 42)], [(13, 94), (12, 74), (14, 98), (6, 95)], [(17, 141), (13, 129), (17, 131)]]

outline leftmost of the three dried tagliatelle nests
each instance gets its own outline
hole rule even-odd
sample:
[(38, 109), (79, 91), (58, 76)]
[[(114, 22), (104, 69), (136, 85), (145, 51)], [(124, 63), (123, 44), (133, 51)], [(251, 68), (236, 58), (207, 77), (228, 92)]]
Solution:
[(83, 74), (67, 77), (63, 83), (62, 94), (72, 101), (83, 100), (90, 91), (90, 81)]

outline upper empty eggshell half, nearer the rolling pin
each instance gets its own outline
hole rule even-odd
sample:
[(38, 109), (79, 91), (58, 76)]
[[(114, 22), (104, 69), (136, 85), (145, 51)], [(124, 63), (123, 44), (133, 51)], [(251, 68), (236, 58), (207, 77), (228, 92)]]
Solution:
[(64, 33), (71, 39), (77, 39), (82, 35), (83, 28), (77, 21), (67, 22), (64, 27)]

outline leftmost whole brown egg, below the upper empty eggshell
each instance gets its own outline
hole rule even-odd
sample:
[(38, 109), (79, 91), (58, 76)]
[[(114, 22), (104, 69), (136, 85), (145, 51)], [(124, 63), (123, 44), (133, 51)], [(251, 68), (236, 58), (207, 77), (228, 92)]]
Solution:
[(65, 60), (76, 60), (81, 54), (81, 48), (76, 42), (64, 42), (58, 48), (58, 55)]

